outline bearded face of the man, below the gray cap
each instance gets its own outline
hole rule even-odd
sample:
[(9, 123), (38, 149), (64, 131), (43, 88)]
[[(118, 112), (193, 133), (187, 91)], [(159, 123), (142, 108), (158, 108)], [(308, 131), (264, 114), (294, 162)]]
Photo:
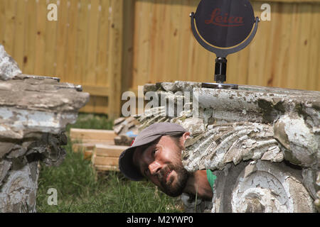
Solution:
[(181, 145), (169, 135), (137, 148), (133, 160), (142, 175), (169, 196), (180, 195), (186, 187), (188, 172), (181, 162)]

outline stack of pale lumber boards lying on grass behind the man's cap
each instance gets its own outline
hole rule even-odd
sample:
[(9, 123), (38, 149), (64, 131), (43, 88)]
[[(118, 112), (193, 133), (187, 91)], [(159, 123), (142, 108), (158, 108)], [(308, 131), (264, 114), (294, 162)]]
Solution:
[(114, 145), (112, 130), (70, 128), (73, 151), (83, 152), (98, 171), (119, 171), (119, 155), (129, 146)]

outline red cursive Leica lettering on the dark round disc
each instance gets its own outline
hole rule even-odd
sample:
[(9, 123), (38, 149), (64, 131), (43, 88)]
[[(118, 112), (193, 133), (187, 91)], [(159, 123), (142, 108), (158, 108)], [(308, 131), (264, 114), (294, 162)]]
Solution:
[(244, 25), (242, 16), (229, 16), (228, 13), (225, 13), (223, 16), (220, 14), (219, 8), (212, 11), (210, 20), (206, 20), (205, 23), (213, 23), (216, 26), (222, 27), (237, 27)]

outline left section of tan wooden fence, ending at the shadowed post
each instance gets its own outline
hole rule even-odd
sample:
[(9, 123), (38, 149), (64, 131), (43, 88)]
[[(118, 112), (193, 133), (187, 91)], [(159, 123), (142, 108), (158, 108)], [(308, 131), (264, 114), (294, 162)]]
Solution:
[[(48, 21), (48, 4), (58, 6)], [(118, 116), (122, 0), (0, 0), (0, 43), (23, 73), (82, 84), (82, 111)], [(110, 107), (111, 106), (111, 107)]]

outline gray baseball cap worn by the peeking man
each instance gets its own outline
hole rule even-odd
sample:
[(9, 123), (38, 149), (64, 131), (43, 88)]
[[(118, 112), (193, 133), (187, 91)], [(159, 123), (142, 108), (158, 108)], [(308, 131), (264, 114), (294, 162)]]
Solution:
[(134, 139), (134, 143), (124, 150), (119, 157), (119, 169), (125, 177), (134, 181), (139, 181), (144, 178), (137, 167), (133, 163), (134, 150), (142, 145), (154, 142), (161, 138), (162, 135), (177, 135), (185, 133), (186, 129), (177, 123), (161, 122), (154, 123), (147, 128), (144, 128), (139, 135)]

